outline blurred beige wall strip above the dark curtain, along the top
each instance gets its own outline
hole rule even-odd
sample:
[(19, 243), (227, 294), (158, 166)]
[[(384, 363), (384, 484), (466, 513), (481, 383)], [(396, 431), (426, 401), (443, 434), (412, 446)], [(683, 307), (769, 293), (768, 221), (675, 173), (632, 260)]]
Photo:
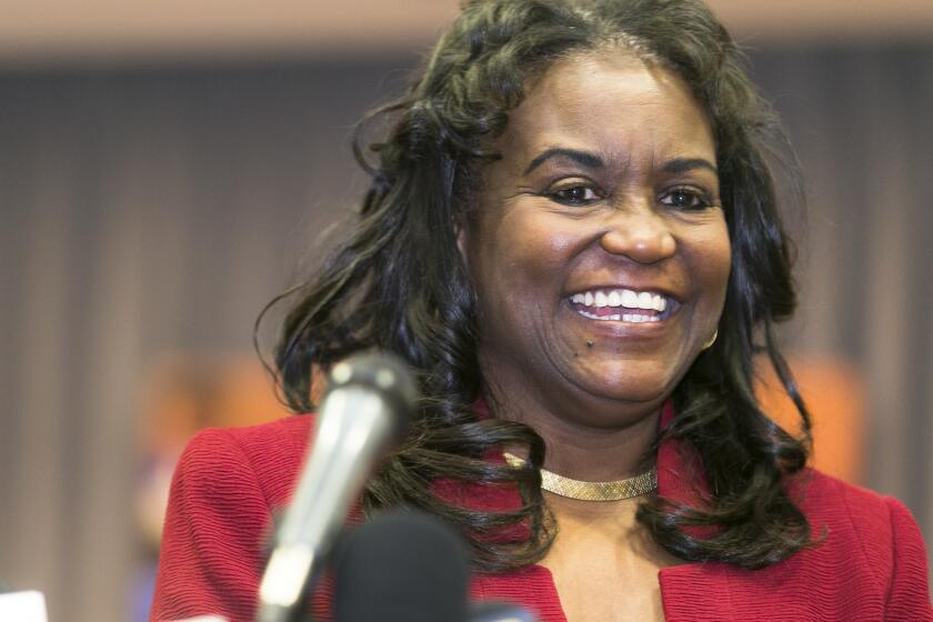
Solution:
[[(933, 37), (931, 0), (709, 0), (752, 44)], [(0, 0), (0, 64), (214, 59), (410, 48), (457, 0)]]

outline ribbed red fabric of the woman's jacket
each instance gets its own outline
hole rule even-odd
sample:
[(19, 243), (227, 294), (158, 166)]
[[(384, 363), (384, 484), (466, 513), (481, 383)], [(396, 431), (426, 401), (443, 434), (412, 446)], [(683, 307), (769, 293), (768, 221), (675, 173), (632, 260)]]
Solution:
[[(172, 484), (153, 622), (210, 613), (253, 620), (272, 515), (294, 488), (312, 422), (211, 429), (191, 441)], [(659, 492), (688, 501), (696, 486), (680, 455), (661, 448)], [(933, 621), (923, 539), (904, 505), (815, 471), (799, 493), (814, 533), (825, 530), (820, 546), (753, 572), (720, 563), (662, 570), (668, 622)], [(500, 503), (501, 492), (493, 498)], [(566, 620), (542, 566), (478, 575), (471, 591), (528, 606), (541, 622)], [(330, 618), (329, 592), (325, 582), (312, 599), (315, 620)]]

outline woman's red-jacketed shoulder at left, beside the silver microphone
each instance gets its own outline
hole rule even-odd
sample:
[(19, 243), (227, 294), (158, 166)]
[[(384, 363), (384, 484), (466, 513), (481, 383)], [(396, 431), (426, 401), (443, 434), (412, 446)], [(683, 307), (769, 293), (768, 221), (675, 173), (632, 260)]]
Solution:
[(191, 439), (172, 481), (152, 620), (253, 620), (272, 516), (288, 502), (312, 424), (289, 417)]

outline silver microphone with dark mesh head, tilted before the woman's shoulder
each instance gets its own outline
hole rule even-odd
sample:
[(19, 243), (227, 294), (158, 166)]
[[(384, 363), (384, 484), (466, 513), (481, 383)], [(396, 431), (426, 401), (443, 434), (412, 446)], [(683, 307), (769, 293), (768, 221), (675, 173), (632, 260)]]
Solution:
[(418, 397), (404, 363), (361, 354), (333, 367), (310, 458), (259, 589), (259, 620), (285, 622), (317, 580), (378, 461), (407, 432)]

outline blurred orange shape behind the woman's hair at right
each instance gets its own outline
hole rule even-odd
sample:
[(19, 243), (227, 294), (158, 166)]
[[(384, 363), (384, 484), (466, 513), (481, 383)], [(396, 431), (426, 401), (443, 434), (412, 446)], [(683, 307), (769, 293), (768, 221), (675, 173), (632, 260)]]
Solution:
[[(790, 357), (787, 361), (813, 417), (811, 465), (851, 483), (864, 472), (864, 391), (859, 370), (841, 359)], [(784, 430), (800, 432), (800, 415), (765, 359), (756, 365), (762, 409)]]

